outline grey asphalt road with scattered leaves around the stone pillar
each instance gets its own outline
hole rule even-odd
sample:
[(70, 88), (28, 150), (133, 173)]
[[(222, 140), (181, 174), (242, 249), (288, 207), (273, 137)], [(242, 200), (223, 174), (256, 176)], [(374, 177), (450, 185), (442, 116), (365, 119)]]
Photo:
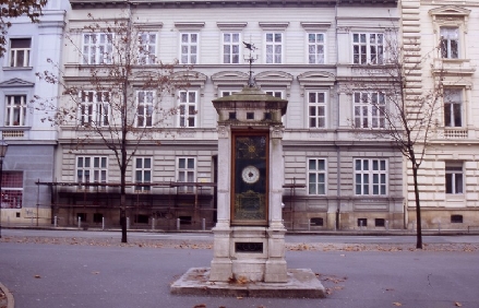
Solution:
[(15, 241), (10, 232), (0, 240), (0, 282), (16, 308), (479, 307), (479, 250), (287, 251), (288, 268), (312, 269), (331, 294), (239, 299), (169, 294), (169, 284), (188, 269), (209, 266), (211, 249), (31, 244)]

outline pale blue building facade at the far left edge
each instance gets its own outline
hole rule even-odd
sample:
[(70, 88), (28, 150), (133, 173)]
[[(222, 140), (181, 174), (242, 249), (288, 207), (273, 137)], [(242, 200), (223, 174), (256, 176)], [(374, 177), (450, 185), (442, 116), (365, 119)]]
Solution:
[[(8, 143), (1, 189), (2, 225), (45, 224), (51, 217), (51, 193), (38, 181), (53, 180), (57, 129), (43, 121), (33, 105), (36, 96), (58, 96), (58, 86), (38, 81), (49, 70), (48, 58), (60, 61), (67, 1), (49, 1), (39, 23), (12, 19), (7, 52), (0, 59), (0, 133)], [(56, 100), (51, 100), (56, 104)]]

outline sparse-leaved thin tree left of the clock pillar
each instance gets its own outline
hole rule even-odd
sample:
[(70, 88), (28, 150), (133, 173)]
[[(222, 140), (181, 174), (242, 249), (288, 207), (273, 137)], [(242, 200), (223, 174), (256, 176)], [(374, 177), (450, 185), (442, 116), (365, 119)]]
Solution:
[[(158, 142), (177, 108), (163, 107), (164, 98), (188, 86), (188, 68), (175, 72), (177, 62), (158, 61), (152, 42), (156, 36), (132, 21), (131, 11), (123, 19), (96, 20), (67, 35), (80, 56), (80, 76), (69, 75), (58, 64), (51, 72), (37, 75), (62, 87), (62, 103), (37, 98), (37, 109), (45, 120), (61, 128), (74, 127), (76, 143), (100, 142), (111, 150), (120, 169), (121, 241), (127, 242), (125, 174), (142, 140)], [(83, 49), (75, 45), (83, 39)], [(84, 64), (84, 71), (82, 71)], [(60, 72), (60, 73), (57, 73)], [(106, 180), (106, 179), (105, 179)]]

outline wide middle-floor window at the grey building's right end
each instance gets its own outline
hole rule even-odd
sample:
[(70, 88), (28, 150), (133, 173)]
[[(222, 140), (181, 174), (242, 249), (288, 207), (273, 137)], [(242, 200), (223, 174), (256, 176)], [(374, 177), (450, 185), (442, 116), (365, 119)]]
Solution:
[(385, 128), (385, 95), (382, 92), (355, 92), (355, 127)]

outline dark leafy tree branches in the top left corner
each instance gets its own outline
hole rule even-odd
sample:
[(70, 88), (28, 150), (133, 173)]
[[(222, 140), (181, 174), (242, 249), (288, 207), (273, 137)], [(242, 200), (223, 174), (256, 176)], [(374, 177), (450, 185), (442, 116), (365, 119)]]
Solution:
[(7, 51), (7, 34), (12, 19), (27, 16), (33, 23), (39, 22), (41, 9), (48, 0), (0, 0), (0, 58)]

